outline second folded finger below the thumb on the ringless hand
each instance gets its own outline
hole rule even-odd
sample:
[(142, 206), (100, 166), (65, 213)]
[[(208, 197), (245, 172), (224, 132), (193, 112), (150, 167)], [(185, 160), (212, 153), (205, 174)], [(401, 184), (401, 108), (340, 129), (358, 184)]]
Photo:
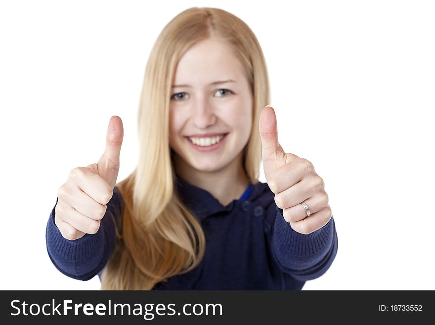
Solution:
[(106, 213), (107, 205), (98, 203), (78, 186), (64, 187), (58, 196), (88, 218), (101, 220)]

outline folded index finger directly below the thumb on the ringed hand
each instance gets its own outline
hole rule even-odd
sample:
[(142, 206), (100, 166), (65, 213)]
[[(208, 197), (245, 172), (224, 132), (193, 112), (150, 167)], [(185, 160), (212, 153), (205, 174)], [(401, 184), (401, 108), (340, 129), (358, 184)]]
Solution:
[(284, 164), (281, 167), (278, 167), (277, 170), (273, 171), (267, 182), (270, 190), (277, 194), (300, 182), (305, 176), (305, 166), (303, 161), (307, 160), (293, 159), (289, 163)]

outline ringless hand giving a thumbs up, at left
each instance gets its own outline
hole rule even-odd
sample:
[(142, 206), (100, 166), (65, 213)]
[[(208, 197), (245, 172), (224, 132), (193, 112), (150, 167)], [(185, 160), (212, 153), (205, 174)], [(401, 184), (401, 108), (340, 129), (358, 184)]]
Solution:
[(106, 149), (98, 163), (74, 168), (57, 190), (54, 223), (66, 239), (75, 240), (100, 228), (118, 177), (123, 138), (122, 120), (112, 116), (107, 128)]

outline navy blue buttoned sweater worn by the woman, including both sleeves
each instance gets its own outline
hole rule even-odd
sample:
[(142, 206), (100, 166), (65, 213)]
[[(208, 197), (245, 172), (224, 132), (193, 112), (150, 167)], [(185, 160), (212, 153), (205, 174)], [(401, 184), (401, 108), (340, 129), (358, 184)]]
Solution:
[[(157, 283), (153, 290), (300, 290), (305, 281), (323, 275), (337, 254), (334, 218), (307, 235), (294, 231), (276, 206), (267, 183), (250, 184), (227, 206), (180, 178), (176, 186), (183, 202), (201, 222), (206, 251), (194, 270)], [(115, 186), (107, 209), (119, 217), (123, 204)], [(113, 220), (103, 218), (98, 232), (71, 241), (54, 224), (55, 207), (45, 233), (54, 266), (74, 279), (101, 276), (115, 245)]]

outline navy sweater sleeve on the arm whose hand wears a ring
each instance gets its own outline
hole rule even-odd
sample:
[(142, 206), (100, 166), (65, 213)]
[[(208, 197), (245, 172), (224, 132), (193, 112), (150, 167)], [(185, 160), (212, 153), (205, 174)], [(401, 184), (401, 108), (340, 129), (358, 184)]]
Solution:
[(334, 217), (315, 232), (303, 234), (290, 227), (282, 215), (282, 209), (276, 206), (276, 210), (272, 254), (279, 268), (301, 281), (325, 274), (338, 249)]

